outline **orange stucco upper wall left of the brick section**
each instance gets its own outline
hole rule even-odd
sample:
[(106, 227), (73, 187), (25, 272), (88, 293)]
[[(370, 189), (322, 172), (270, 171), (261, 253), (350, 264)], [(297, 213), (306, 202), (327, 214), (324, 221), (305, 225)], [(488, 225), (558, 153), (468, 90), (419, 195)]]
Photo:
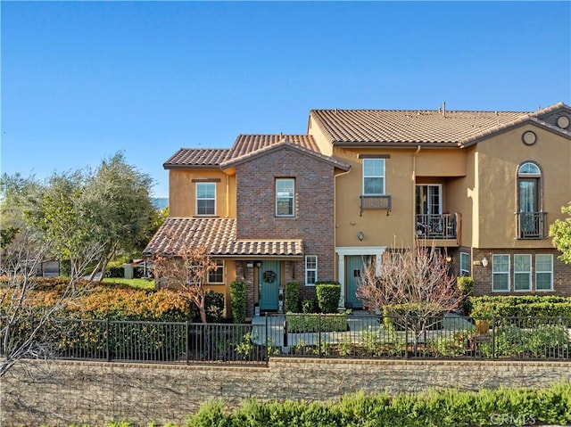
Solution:
[(219, 179), (216, 185), (216, 217), (236, 218), (236, 177), (219, 169), (170, 169), (170, 217), (190, 218), (196, 215), (193, 179)]

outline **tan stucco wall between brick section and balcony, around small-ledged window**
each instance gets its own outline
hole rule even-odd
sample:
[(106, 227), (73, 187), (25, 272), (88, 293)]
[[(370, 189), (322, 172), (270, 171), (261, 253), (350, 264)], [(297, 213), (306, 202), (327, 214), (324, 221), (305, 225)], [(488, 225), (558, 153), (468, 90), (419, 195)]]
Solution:
[[(385, 193), (393, 209), (367, 209), (360, 214), (362, 160), (360, 154), (385, 154)], [(459, 149), (335, 149), (335, 157), (351, 164), (351, 172), (335, 178), (335, 244), (345, 246), (411, 247), (415, 238), (415, 183), (443, 185), (443, 211), (454, 213), (465, 203), (453, 200), (464, 179), (466, 154)], [(357, 234), (362, 232), (362, 242)]]

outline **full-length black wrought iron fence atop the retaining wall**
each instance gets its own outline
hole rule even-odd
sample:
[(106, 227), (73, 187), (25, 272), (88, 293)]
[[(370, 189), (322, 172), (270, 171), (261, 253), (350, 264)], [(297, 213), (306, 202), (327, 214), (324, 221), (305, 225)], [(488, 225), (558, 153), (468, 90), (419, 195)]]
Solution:
[[(13, 324), (8, 341), (17, 345), (32, 327), (31, 320)], [(35, 341), (46, 357), (110, 362), (266, 365), (275, 355), (571, 360), (570, 328), (571, 317), (453, 314), (287, 314), (252, 324), (53, 319)]]

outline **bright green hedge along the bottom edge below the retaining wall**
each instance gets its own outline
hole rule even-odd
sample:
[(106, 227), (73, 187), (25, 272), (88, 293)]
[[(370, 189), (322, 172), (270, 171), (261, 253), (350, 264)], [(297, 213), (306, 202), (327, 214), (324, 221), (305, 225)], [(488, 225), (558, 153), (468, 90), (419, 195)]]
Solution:
[(228, 410), (223, 401), (211, 401), (189, 416), (186, 426), (467, 427), (539, 423), (571, 423), (570, 383), (542, 390), (431, 390), (395, 396), (360, 392), (337, 402), (248, 399), (234, 410)]

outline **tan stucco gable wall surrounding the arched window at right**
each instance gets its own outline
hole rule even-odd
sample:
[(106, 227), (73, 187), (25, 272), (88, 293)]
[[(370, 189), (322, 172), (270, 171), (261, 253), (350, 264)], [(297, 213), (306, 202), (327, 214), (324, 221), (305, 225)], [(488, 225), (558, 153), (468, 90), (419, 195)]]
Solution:
[[(527, 146), (521, 136), (533, 130), (537, 142)], [(517, 166), (533, 160), (542, 168), (543, 210), (552, 224), (563, 218), (561, 207), (571, 201), (571, 141), (534, 125), (493, 136), (476, 147), (474, 245), (480, 248), (550, 248), (550, 239), (517, 240)], [(479, 232), (479, 233), (478, 233)], [(476, 238), (477, 235), (477, 238)]]

